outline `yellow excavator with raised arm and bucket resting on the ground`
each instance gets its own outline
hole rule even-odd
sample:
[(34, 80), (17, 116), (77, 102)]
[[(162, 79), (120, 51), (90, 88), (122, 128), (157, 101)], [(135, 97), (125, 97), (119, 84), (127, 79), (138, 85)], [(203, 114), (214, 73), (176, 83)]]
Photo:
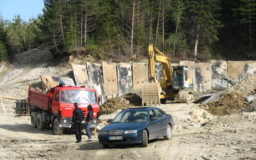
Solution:
[[(181, 103), (193, 100), (193, 79), (188, 77), (187, 66), (171, 66), (170, 58), (152, 44), (148, 47), (149, 82), (142, 84), (142, 106), (166, 103), (179, 98)], [(155, 74), (155, 62), (162, 64), (163, 79)]]

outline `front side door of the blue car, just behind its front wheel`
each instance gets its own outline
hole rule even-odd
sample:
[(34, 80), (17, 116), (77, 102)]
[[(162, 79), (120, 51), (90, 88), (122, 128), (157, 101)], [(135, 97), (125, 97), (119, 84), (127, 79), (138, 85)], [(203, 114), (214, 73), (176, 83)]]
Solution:
[[(155, 120), (152, 120), (153, 117), (156, 117)], [(155, 114), (155, 111), (151, 109), (149, 111), (149, 123), (148, 123), (148, 132), (149, 132), (149, 139), (157, 138), (159, 135), (160, 129), (162, 127), (160, 126), (160, 121)]]

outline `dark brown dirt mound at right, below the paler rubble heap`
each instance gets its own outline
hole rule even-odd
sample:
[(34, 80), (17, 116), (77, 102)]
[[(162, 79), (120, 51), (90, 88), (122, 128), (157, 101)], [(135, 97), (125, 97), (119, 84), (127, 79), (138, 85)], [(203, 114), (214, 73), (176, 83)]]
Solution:
[(228, 115), (237, 112), (238, 109), (246, 107), (246, 98), (242, 94), (231, 92), (222, 94), (215, 102), (207, 104), (205, 109), (213, 115)]

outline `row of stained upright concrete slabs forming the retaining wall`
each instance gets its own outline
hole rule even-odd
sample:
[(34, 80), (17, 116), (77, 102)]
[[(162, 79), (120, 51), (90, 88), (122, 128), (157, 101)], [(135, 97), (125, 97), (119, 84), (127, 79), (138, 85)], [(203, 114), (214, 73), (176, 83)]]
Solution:
[[(209, 92), (216, 88), (226, 88), (227, 77), (232, 80), (244, 78), (248, 74), (256, 74), (256, 61), (215, 61), (195, 63), (180, 61), (172, 66), (188, 66), (188, 76), (193, 79), (194, 91)], [(156, 74), (163, 78), (162, 65), (155, 64)], [(89, 63), (73, 65), (77, 85), (90, 84), (103, 96), (122, 95), (133, 89), (140, 89), (141, 84), (148, 82), (147, 63)], [(90, 86), (88, 85), (88, 86)]]

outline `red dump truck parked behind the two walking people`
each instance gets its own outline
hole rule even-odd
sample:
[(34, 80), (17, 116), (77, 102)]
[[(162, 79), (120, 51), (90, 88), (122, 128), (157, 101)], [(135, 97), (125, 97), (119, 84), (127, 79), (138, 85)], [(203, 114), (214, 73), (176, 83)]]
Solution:
[[(71, 128), (74, 103), (84, 111), (86, 118), (87, 106), (93, 107), (93, 123), (91, 131), (95, 131), (99, 125), (99, 104), (97, 92), (84, 86), (63, 86), (51, 88), (47, 93), (42, 93), (29, 87), (29, 108), (31, 126), (39, 129), (53, 127), (54, 134), (61, 135), (64, 128)], [(85, 127), (85, 120), (82, 126)]]

